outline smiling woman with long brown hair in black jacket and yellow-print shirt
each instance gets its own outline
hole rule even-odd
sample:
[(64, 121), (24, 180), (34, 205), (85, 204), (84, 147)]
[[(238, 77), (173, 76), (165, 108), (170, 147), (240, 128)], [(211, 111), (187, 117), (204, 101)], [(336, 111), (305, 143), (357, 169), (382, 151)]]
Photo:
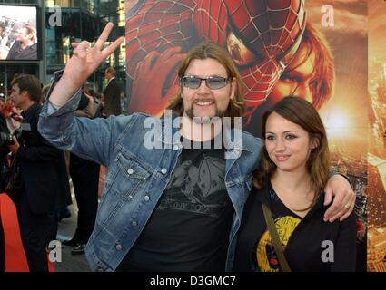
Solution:
[(323, 221), (330, 159), (318, 112), (301, 98), (286, 97), (264, 114), (262, 138), (234, 270), (353, 271), (354, 215)]

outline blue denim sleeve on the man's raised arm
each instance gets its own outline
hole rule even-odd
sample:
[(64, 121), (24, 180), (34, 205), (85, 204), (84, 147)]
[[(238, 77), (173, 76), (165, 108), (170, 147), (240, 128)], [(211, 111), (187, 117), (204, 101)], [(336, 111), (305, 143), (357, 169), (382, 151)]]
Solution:
[(114, 159), (114, 148), (119, 134), (134, 117), (112, 116), (108, 119), (93, 120), (76, 118), (74, 111), (78, 107), (80, 91), (60, 108), (55, 107), (49, 98), (60, 77), (60, 73), (55, 73), (54, 82), (45, 98), (38, 123), (40, 134), (57, 148), (72, 151), (79, 157), (108, 166)]

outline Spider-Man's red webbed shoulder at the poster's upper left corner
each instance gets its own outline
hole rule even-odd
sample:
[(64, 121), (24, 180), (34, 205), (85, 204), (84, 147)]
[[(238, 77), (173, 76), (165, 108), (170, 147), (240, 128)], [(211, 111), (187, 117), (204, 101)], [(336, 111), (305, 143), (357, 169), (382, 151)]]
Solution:
[(193, 0), (144, 1), (126, 21), (126, 67), (132, 80), (136, 65), (152, 51), (173, 46), (188, 51), (197, 42), (193, 27)]

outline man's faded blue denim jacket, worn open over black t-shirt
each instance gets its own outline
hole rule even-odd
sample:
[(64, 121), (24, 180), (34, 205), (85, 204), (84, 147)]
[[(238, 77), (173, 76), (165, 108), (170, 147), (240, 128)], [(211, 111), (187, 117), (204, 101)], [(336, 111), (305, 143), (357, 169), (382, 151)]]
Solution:
[[(60, 74), (55, 75), (55, 82)], [(48, 96), (51, 92), (48, 92)], [(145, 114), (111, 116), (108, 119), (75, 118), (80, 92), (53, 110), (46, 98), (40, 115), (39, 131), (46, 140), (63, 150), (94, 160), (108, 168), (94, 232), (86, 247), (93, 271), (114, 271), (133, 247), (163, 194), (182, 152), (179, 138), (168, 140), (165, 121)], [(161, 149), (144, 146), (144, 121), (157, 122), (162, 128), (158, 140)], [(173, 117), (174, 118), (174, 117)], [(232, 130), (235, 131), (235, 130)], [(232, 270), (236, 233), (242, 209), (252, 187), (252, 170), (260, 160), (262, 141), (239, 131), (242, 142), (233, 142), (228, 152), (238, 158), (225, 159), (225, 185), (233, 203), (234, 218), (229, 235), (226, 269)], [(178, 128), (172, 128), (172, 136)], [(231, 137), (234, 132), (231, 133)]]

